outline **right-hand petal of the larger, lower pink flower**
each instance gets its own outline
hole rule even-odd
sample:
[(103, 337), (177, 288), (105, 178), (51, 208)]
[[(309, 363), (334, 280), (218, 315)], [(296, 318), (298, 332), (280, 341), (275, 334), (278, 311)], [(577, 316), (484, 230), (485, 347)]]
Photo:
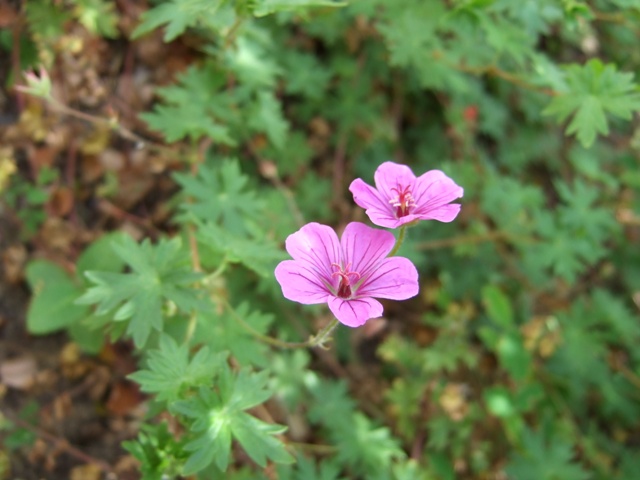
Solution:
[(418, 294), (418, 270), (404, 257), (386, 258), (358, 288), (364, 297), (406, 300)]

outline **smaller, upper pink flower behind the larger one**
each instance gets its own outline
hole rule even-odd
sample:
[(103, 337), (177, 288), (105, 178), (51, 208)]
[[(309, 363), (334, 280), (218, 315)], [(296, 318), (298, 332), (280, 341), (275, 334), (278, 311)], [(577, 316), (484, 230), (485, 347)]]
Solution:
[(460, 211), (459, 204), (449, 202), (462, 197), (464, 190), (440, 170), (416, 178), (406, 165), (385, 162), (374, 179), (376, 188), (356, 178), (349, 190), (369, 219), (381, 227), (397, 228), (417, 220), (451, 222)]

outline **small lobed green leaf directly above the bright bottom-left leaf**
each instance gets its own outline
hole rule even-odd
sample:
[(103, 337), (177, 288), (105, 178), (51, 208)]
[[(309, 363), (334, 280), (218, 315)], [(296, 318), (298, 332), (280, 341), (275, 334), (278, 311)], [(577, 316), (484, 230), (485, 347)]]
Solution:
[(226, 355), (212, 354), (207, 347), (189, 359), (189, 347), (178, 345), (168, 335), (160, 337), (157, 350), (148, 354), (147, 368), (129, 375), (143, 392), (156, 394), (156, 400), (171, 403), (187, 389), (208, 385)]

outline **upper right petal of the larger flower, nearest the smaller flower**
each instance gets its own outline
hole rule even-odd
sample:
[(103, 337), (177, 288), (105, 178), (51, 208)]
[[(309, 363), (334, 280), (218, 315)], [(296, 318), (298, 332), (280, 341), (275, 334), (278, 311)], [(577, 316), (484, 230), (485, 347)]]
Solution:
[(351, 222), (344, 229), (340, 244), (344, 262), (351, 264), (350, 270), (367, 277), (389, 254), (396, 243), (391, 232), (371, 228), (364, 223)]

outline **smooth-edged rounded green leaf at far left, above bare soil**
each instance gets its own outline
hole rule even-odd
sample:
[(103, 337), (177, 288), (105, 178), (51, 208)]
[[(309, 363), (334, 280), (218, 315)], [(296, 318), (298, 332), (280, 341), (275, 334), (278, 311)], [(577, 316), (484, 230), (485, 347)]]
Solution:
[(27, 311), (29, 332), (55, 332), (90, 314), (87, 307), (74, 304), (82, 290), (57, 265), (46, 260), (32, 261), (27, 265), (26, 277), (33, 291)]

